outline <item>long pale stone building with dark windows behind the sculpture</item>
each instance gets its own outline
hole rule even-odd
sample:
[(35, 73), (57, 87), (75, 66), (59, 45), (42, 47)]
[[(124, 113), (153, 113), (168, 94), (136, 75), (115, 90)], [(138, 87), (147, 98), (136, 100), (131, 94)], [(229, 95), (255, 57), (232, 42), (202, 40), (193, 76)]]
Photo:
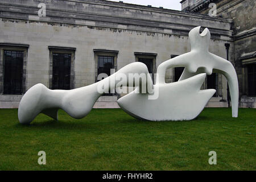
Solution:
[[(22, 94), (39, 82), (50, 89), (79, 88), (134, 61), (154, 74), (163, 61), (190, 51), (188, 32), (196, 26), (209, 28), (210, 52), (226, 59), (229, 44), (236, 65), (232, 18), (100, 0), (1, 0), (0, 107), (18, 107)], [(247, 60), (247, 53), (240, 59)], [(177, 81), (182, 69), (168, 70), (166, 82)], [(203, 87), (217, 90), (208, 106), (228, 106), (224, 76), (208, 76)], [(118, 107), (117, 97), (101, 97), (94, 107)]]

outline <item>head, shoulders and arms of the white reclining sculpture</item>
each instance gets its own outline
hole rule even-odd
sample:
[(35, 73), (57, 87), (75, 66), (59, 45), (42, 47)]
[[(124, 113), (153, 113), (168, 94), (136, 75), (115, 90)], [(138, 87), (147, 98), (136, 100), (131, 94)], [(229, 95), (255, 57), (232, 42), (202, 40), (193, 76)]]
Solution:
[(191, 52), (184, 53), (159, 65), (156, 84), (164, 84), (166, 69), (173, 67), (185, 67), (179, 81), (199, 73), (207, 73), (207, 75), (212, 75), (213, 72), (222, 73), (228, 80), (230, 88), (232, 116), (238, 117), (238, 80), (232, 63), (209, 52), (210, 31), (208, 28), (205, 28), (201, 34), (200, 27), (193, 28), (189, 32), (189, 41)]

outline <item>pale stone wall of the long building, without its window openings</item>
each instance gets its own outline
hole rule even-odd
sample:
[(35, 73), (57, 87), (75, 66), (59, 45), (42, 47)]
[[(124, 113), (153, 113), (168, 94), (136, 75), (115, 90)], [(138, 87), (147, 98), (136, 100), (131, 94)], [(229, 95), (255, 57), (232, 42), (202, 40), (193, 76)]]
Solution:
[[(39, 3), (46, 4), (46, 16), (39, 17)], [(210, 17), (184, 11), (130, 5), (100, 0), (1, 0), (0, 48), (27, 45), (24, 92), (42, 83), (51, 85), (51, 49), (73, 51), (72, 88), (96, 81), (96, 52), (115, 52), (116, 69), (137, 60), (136, 55), (155, 55), (155, 65), (190, 51), (188, 32), (196, 26), (208, 27), (212, 33), (210, 52), (226, 59), (225, 44), (230, 44), (230, 61), (234, 64), (232, 19)], [(174, 81), (174, 69), (166, 81)], [(0, 86), (3, 86), (0, 73)], [(2, 90), (2, 89), (0, 89)], [(0, 93), (1, 108), (18, 107), (20, 95)], [(116, 97), (102, 97), (95, 107), (118, 107)], [(218, 75), (218, 97), (209, 106), (226, 106), (227, 82)], [(108, 101), (110, 105), (108, 105)]]

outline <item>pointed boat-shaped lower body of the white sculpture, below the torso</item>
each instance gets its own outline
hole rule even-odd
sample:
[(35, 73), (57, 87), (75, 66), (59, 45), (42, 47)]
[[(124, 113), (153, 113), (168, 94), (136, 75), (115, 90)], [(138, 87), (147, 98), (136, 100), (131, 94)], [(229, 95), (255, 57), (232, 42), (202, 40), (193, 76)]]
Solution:
[(200, 90), (205, 73), (170, 84), (156, 84), (156, 100), (148, 100), (148, 94), (131, 92), (119, 98), (119, 106), (138, 119), (149, 121), (182, 121), (197, 117), (216, 92), (214, 89)]

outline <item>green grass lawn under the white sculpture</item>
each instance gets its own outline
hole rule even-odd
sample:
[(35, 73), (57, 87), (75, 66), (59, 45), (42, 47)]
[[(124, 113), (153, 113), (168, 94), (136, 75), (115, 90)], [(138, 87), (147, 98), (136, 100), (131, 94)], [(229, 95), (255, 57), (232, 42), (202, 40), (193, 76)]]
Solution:
[[(138, 121), (121, 109), (93, 109), (84, 119), (63, 110), (20, 125), (0, 109), (0, 170), (255, 170), (255, 109), (205, 108), (193, 121)], [(38, 164), (46, 151), (47, 164)], [(217, 165), (209, 165), (209, 151)]]

